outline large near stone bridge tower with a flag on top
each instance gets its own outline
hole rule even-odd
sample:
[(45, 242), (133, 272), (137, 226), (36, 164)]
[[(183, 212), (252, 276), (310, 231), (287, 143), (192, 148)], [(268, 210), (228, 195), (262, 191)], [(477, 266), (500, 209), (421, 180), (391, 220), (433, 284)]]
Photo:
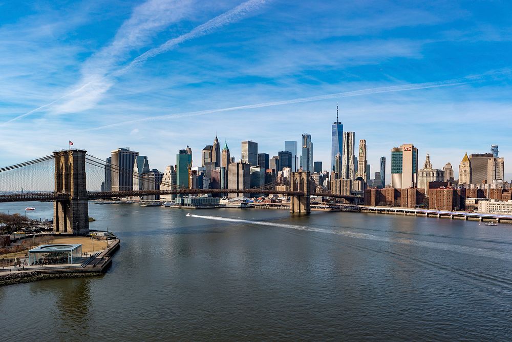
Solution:
[(89, 211), (86, 188), (86, 152), (62, 150), (55, 156), (55, 192), (67, 194), (66, 200), (57, 200), (53, 210), (55, 232), (89, 234)]

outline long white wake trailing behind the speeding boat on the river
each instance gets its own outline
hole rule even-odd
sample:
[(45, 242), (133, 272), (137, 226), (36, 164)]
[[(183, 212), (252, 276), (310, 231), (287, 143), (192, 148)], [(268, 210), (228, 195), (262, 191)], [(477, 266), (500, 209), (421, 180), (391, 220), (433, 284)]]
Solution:
[(228, 217), (219, 217), (219, 216), (202, 216), (202, 215), (195, 215), (195, 214), (189, 214), (189, 215), (187, 214), (187, 216), (204, 218), (204, 219), (209, 219), (209, 220), (232, 222), (232, 223), (242, 223), (242, 224), (270, 226), (270, 227), (282, 227), (282, 228), (289, 228), (289, 229), (302, 230), (302, 231), (308, 231), (308, 232), (335, 234), (335, 235), (342, 235), (342, 236), (347, 236), (347, 237), (356, 238), (356, 239), (375, 240), (375, 241), (386, 242), (386, 243), (391, 243), (391, 244), (412, 245), (412, 246), (433, 248), (433, 249), (438, 249), (438, 250), (459, 252), (459, 253), (472, 254), (472, 255), (480, 255), (480, 256), (486, 256), (486, 257), (492, 257), (492, 258), (512, 261), (512, 254), (496, 251), (493, 249), (468, 247), (468, 246), (462, 246), (462, 245), (414, 240), (414, 239), (408, 239), (408, 238), (377, 236), (377, 235), (366, 234), (366, 233), (352, 232), (352, 231), (348, 231), (348, 230), (328, 230), (328, 229), (324, 229), (324, 228), (289, 225), (289, 224), (282, 224), (282, 223), (276, 223), (276, 222), (255, 221), (255, 220), (240, 219), (240, 218), (228, 218)]

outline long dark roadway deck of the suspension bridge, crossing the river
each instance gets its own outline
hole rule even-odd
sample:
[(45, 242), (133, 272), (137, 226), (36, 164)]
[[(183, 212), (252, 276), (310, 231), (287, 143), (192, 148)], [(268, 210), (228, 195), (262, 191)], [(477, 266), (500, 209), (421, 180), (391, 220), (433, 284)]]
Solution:
[[(303, 191), (278, 191), (278, 190), (264, 190), (264, 189), (179, 189), (179, 190), (135, 190), (135, 191), (111, 191), (111, 192), (94, 192), (87, 193), (87, 199), (107, 199), (131, 196), (151, 196), (151, 195), (179, 195), (179, 194), (225, 194), (225, 193), (258, 193), (258, 194), (276, 194), (287, 196), (304, 196)], [(352, 195), (338, 195), (332, 193), (310, 193), (311, 196), (345, 198), (353, 202), (360, 196)], [(70, 195), (66, 193), (56, 192), (31, 192), (23, 194), (4, 194), (0, 195), (0, 202), (28, 202), (28, 201), (61, 201), (69, 200)], [(80, 198), (77, 198), (80, 199)]]

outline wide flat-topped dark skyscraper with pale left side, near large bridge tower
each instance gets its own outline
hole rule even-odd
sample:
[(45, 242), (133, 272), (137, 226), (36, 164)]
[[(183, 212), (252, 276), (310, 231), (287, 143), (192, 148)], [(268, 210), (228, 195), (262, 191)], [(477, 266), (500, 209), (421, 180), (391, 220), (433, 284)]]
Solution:
[(112, 151), (112, 191), (133, 190), (133, 165), (139, 152), (129, 148), (118, 148)]

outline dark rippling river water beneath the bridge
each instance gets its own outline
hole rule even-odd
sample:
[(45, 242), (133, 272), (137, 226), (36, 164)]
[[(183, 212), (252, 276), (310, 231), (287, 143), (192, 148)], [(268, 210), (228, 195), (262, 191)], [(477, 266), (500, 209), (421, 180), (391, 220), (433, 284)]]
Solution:
[[(52, 216), (51, 203), (0, 211)], [(512, 225), (89, 205), (91, 278), (0, 288), (0, 340), (511, 340)]]

